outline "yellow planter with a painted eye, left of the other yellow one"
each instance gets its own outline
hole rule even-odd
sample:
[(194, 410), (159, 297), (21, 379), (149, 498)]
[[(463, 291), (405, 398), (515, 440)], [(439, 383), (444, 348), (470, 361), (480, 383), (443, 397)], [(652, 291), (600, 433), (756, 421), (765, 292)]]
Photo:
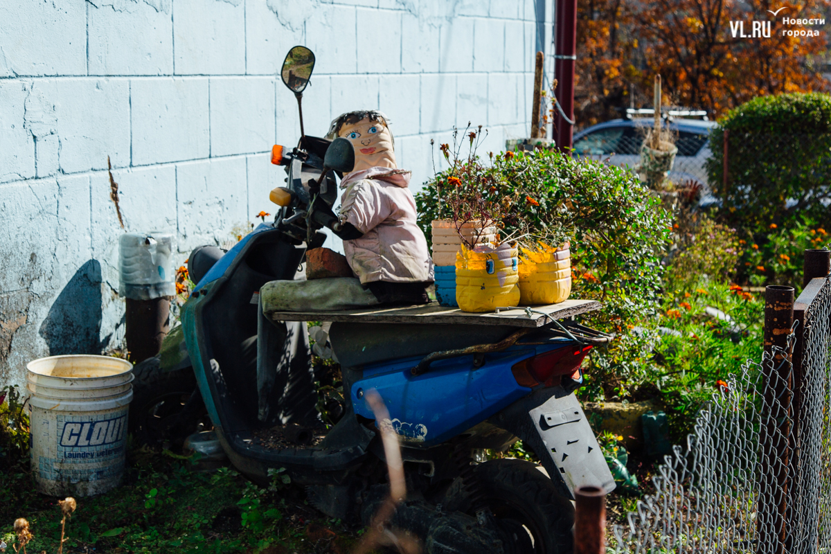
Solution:
[(456, 302), (461, 311), (494, 311), (519, 305), (519, 260), (508, 243), (499, 248), (462, 245), (456, 255)]

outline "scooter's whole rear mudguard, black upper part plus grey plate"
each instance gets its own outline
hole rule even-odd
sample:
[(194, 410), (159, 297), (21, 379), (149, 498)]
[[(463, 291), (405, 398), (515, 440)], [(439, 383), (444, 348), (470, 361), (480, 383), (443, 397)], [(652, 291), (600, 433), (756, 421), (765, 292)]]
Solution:
[(575, 395), (538, 390), (492, 419), (530, 447), (554, 483), (573, 498), (575, 488), (615, 488), (612, 472)]

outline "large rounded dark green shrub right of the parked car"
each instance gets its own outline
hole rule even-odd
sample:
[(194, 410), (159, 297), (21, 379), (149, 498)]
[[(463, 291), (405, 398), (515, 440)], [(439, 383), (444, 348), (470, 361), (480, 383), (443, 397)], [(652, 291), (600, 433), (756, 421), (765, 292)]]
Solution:
[[(724, 183), (724, 134), (728, 177)], [(831, 96), (759, 96), (730, 110), (711, 132), (707, 171), (725, 220), (741, 228), (807, 213), (831, 221)], [(795, 201), (787, 207), (788, 201)]]

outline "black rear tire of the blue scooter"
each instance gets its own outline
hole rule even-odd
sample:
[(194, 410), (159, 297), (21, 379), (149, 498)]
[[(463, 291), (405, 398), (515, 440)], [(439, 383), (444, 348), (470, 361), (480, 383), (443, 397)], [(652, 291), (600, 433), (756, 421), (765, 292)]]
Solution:
[[(484, 502), (503, 529), (513, 529), (512, 536), (525, 531), (531, 539), (514, 536), (514, 547), (505, 552), (572, 554), (573, 504), (534, 463), (495, 459), (479, 463), (474, 473)], [(462, 509), (471, 507), (463, 501)]]

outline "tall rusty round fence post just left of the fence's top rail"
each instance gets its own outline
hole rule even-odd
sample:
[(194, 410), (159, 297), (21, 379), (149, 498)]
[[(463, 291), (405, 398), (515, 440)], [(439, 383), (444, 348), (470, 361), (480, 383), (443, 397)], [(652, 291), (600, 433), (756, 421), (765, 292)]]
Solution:
[[(761, 475), (756, 518), (756, 552), (781, 554), (785, 549), (785, 517), (788, 507), (788, 464), (790, 440), (788, 336), (794, 323), (794, 288), (770, 285), (765, 288), (765, 362), (762, 365), (765, 408), (760, 439)], [(774, 354), (773, 347), (785, 351)], [(783, 373), (779, 373), (779, 371)]]

